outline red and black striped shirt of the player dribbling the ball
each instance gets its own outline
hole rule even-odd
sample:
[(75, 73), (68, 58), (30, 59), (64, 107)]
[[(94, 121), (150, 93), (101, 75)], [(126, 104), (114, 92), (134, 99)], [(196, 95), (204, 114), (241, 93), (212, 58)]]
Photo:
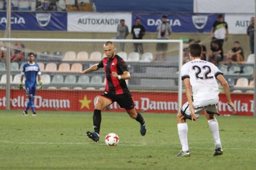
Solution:
[(104, 68), (106, 75), (106, 87), (105, 91), (111, 94), (124, 94), (129, 92), (124, 79), (117, 79), (112, 76), (112, 72), (116, 72), (117, 75), (122, 75), (124, 71), (129, 71), (126, 62), (119, 57), (119, 55), (114, 55), (113, 58), (109, 59), (105, 57), (98, 63), (97, 67)]

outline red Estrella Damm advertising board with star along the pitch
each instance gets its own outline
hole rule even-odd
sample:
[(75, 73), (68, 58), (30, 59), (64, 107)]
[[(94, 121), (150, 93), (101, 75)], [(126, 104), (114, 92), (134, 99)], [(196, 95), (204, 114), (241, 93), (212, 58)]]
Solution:
[[(61, 91), (38, 90), (35, 97), (36, 110), (51, 111), (92, 111), (100, 91)], [(177, 113), (177, 92), (132, 92), (135, 109), (145, 113)], [(254, 111), (253, 94), (231, 94), (237, 115), (252, 116)], [(28, 99), (25, 91), (11, 90), (11, 109), (23, 110)], [(6, 108), (6, 90), (0, 90), (0, 109)], [(232, 115), (226, 95), (220, 94), (218, 110), (221, 115)], [(107, 111), (107, 110), (105, 110)], [(109, 110), (125, 111), (113, 103)]]

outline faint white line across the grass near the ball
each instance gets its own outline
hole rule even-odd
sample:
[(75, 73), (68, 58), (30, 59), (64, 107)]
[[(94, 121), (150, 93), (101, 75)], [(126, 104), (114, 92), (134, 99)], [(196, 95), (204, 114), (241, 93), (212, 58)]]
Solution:
[[(5, 144), (25, 144), (25, 145), (90, 145), (93, 144), (93, 142), (90, 143), (81, 143), (81, 142), (61, 142), (61, 143), (54, 143), (54, 142), (11, 142), (11, 141), (0, 141), (0, 143), (5, 143)], [(104, 143), (99, 143), (95, 145), (105, 145)], [(154, 145), (135, 145), (135, 144), (119, 144), (121, 146), (131, 146), (131, 147), (143, 147), (143, 146), (148, 146), (148, 147), (153, 147)], [(198, 149), (198, 150), (213, 150), (213, 148), (207, 148), (207, 147), (190, 147), (193, 149)], [(223, 148), (224, 150), (252, 150), (256, 151), (256, 148)]]

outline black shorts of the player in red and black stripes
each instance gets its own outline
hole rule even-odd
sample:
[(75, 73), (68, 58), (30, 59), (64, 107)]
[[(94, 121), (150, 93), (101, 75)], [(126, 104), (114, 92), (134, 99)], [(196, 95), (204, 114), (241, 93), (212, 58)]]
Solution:
[(108, 92), (103, 92), (101, 96), (110, 99), (112, 103), (117, 102), (121, 108), (125, 108), (126, 110), (134, 108), (134, 99), (129, 92), (124, 94), (110, 94)]

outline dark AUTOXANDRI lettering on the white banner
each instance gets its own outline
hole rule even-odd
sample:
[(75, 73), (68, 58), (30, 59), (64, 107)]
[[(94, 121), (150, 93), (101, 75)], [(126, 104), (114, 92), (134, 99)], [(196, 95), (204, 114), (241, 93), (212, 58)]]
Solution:
[(118, 19), (100, 19), (100, 18), (79, 18), (78, 24), (92, 24), (92, 25), (118, 25), (119, 20)]

